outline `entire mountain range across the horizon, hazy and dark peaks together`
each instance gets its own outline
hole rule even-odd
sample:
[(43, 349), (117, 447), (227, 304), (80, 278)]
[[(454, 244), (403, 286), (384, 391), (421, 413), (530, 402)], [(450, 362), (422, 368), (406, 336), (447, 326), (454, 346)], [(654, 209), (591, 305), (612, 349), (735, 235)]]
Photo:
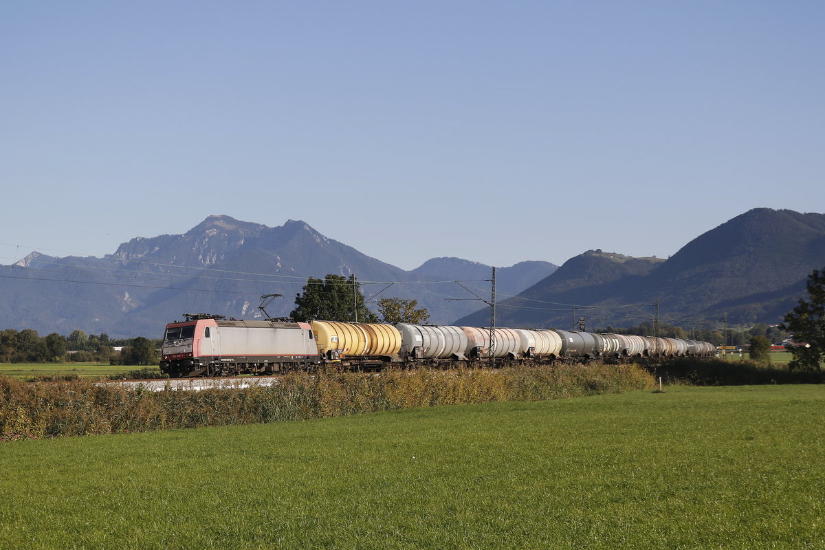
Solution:
[[(667, 259), (591, 250), (557, 268), (524, 261), (497, 269), (497, 326), (682, 327), (778, 323), (825, 267), (825, 214), (752, 209), (696, 237)], [(290, 220), (267, 227), (213, 215), (182, 235), (135, 237), (114, 254), (33, 252), (0, 266), (0, 329), (75, 329), (113, 337), (157, 336), (183, 313), (260, 318), (262, 294), (294, 308), (309, 276), (355, 274), (373, 303), (417, 299), (429, 322), (487, 326), (491, 267), (455, 257), (402, 270)], [(459, 281), (456, 283), (455, 281)]]

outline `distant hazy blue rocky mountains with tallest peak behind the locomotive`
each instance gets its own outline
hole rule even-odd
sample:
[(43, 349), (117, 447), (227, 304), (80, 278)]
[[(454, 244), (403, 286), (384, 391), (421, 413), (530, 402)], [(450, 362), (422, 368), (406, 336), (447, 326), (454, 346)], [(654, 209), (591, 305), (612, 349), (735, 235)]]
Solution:
[[(524, 261), (499, 269), (497, 288), (516, 294), (556, 267)], [(284, 294), (266, 308), (281, 317), (295, 307), (295, 294), (309, 276), (330, 273), (355, 274), (368, 299), (417, 299), (430, 322), (446, 324), (476, 308), (468, 289), (489, 298), (484, 280), (491, 272), (490, 266), (454, 257), (433, 258), (406, 271), (303, 221), (271, 228), (212, 215), (182, 235), (135, 237), (103, 258), (32, 252), (0, 266), (0, 328), (156, 336), (183, 313), (260, 318), (262, 294)]]

